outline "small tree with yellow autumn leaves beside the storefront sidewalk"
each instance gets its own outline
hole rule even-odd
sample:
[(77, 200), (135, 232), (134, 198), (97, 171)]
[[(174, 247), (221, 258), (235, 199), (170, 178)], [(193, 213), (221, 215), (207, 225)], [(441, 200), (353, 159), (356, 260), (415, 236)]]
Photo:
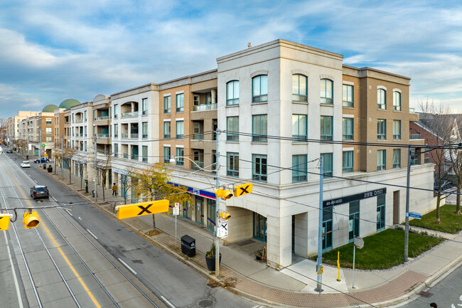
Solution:
[[(146, 169), (141, 169), (132, 178), (136, 179), (136, 193), (142, 196), (144, 201), (168, 199), (172, 203), (185, 203), (191, 201), (188, 189), (184, 186), (170, 184), (172, 170), (166, 164), (153, 164)], [(133, 193), (133, 191), (132, 191)], [(156, 231), (156, 216), (152, 216), (152, 225)]]

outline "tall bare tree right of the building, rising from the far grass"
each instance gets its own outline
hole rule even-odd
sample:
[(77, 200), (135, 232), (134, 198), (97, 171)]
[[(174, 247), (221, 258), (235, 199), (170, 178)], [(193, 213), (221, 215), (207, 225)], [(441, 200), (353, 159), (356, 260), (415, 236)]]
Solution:
[[(426, 102), (420, 102), (419, 107), (422, 110), (420, 115), (420, 122), (428, 130), (424, 130), (426, 140), (434, 140), (434, 144), (438, 147), (444, 147), (451, 144), (453, 134), (454, 121), (448, 120), (451, 115), (451, 110), (445, 107), (443, 103), (435, 104), (433, 101), (427, 100)], [(435, 223), (441, 223), (439, 218), (439, 206), (441, 202), (441, 184), (444, 177), (450, 170), (448, 168), (449, 156), (446, 149), (434, 149), (429, 152), (431, 159), (435, 164), (435, 183), (438, 183), (438, 193), (436, 197), (436, 221)]]

